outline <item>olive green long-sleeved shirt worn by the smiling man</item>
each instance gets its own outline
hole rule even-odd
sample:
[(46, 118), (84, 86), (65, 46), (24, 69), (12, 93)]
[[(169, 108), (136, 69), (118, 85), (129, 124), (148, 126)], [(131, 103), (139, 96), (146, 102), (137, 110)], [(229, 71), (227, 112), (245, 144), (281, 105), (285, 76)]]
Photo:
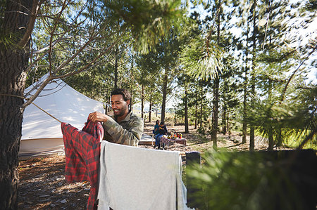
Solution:
[(143, 134), (144, 123), (142, 118), (129, 112), (121, 122), (111, 117), (102, 125), (104, 127), (104, 140), (113, 143), (137, 146)]

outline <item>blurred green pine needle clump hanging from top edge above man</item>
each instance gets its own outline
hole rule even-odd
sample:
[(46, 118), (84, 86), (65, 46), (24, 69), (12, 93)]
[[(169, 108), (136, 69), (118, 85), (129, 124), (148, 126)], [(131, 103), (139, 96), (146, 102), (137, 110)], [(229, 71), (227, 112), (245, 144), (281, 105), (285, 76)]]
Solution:
[(137, 51), (148, 52), (170, 29), (177, 29), (183, 17), (181, 1), (106, 1), (113, 18), (124, 20), (122, 27), (131, 27)]

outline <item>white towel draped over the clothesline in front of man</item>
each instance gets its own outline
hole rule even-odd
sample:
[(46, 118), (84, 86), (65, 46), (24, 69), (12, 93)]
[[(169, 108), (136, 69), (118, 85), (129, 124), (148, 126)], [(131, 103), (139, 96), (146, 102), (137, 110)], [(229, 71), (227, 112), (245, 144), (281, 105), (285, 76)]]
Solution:
[(180, 153), (102, 141), (98, 199), (98, 209), (187, 209)]

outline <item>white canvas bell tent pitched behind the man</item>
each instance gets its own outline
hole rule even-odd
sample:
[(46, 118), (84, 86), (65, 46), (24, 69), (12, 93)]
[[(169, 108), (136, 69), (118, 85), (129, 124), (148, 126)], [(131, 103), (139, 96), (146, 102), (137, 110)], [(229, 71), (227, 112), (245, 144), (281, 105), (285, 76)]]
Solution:
[[(36, 88), (32, 88), (46, 77), (47, 75), (44, 75), (38, 82), (26, 88), (25, 93), (31, 91), (30, 95), (34, 94)], [(47, 84), (33, 103), (61, 122), (67, 122), (77, 129), (82, 129), (90, 112), (104, 113), (102, 103), (75, 91), (61, 79)], [(61, 124), (35, 105), (31, 104), (25, 108), (20, 157), (63, 151)]]

